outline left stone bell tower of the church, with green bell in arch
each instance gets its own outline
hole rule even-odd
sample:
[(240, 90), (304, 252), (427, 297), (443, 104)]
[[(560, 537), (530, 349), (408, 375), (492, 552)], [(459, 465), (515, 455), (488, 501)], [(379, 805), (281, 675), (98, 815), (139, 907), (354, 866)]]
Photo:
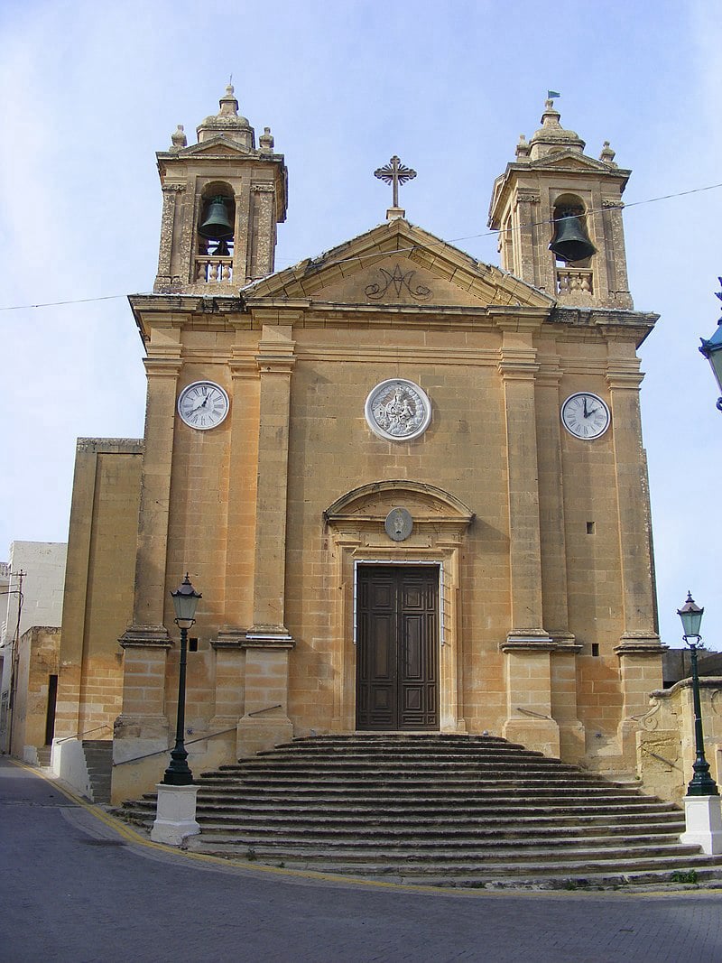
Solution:
[(233, 296), (273, 272), (288, 170), (270, 128), (256, 148), (230, 85), (219, 107), (196, 128), (197, 143), (188, 146), (179, 124), (169, 149), (156, 155), (163, 190), (156, 294)]

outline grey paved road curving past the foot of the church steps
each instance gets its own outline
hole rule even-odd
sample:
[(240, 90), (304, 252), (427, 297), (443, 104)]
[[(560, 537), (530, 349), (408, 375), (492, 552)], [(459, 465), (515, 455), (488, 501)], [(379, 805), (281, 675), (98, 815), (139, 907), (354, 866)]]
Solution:
[(722, 961), (722, 892), (419, 893), (136, 842), (0, 758), (1, 963)]

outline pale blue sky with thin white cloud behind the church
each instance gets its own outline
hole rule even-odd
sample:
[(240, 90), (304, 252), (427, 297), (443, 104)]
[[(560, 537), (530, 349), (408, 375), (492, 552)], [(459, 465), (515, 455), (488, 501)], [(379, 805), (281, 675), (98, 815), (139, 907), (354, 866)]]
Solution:
[[(492, 184), (553, 89), (587, 152), (608, 140), (632, 169), (632, 297), (661, 315), (641, 354), (662, 638), (680, 644), (690, 587), (722, 647), (722, 414), (697, 351), (720, 314), (722, 188), (700, 190), (722, 182), (718, 3), (6, 0), (0, 36), (0, 306), (75, 301), (0, 311), (0, 558), (13, 539), (65, 540), (77, 436), (142, 434), (124, 296), (155, 276), (154, 153), (177, 123), (193, 141), (230, 74), (286, 155), (279, 268), (382, 221), (389, 189), (373, 171), (394, 153), (418, 171), (409, 220), (498, 263)], [(647, 203), (663, 195), (676, 196)]]

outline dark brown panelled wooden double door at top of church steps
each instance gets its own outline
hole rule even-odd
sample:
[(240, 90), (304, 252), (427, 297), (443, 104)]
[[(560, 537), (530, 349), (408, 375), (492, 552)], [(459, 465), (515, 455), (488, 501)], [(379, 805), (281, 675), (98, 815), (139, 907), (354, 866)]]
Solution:
[(439, 728), (439, 569), (359, 565), (356, 727)]

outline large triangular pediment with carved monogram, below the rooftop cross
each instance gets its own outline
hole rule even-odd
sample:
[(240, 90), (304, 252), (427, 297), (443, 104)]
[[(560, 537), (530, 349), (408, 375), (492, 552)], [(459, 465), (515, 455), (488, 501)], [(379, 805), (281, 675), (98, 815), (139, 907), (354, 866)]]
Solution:
[(542, 291), (400, 218), (255, 281), (244, 295), (381, 307), (554, 304)]

